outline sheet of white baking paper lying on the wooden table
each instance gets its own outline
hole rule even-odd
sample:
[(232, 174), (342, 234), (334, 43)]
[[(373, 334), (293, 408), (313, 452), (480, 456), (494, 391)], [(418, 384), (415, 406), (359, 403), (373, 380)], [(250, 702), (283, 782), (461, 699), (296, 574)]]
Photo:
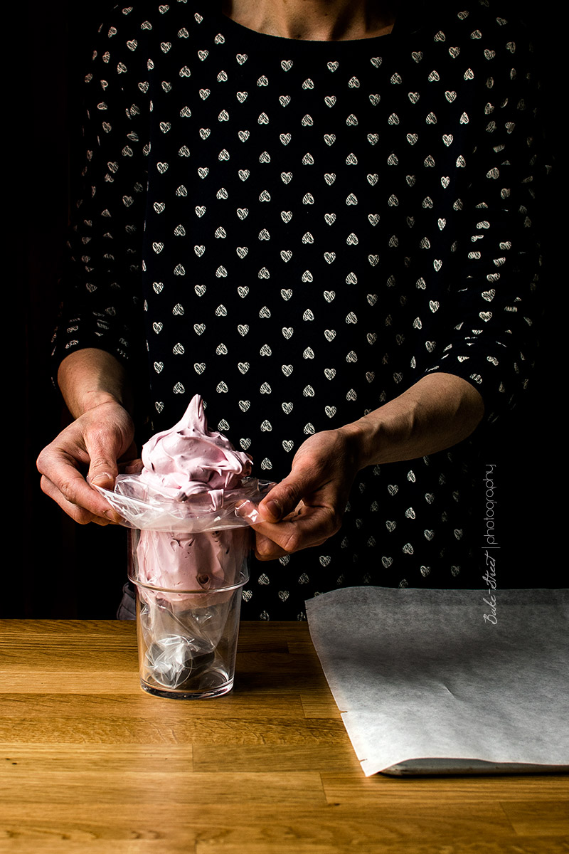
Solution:
[(417, 759), (569, 766), (569, 590), (493, 595), (361, 587), (306, 603), (366, 776)]

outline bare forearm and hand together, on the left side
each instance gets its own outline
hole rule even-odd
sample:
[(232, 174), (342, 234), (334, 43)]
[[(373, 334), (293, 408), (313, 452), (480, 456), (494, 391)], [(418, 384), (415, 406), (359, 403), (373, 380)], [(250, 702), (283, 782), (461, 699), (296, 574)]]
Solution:
[(119, 459), (136, 456), (125, 369), (104, 350), (87, 348), (61, 362), (57, 379), (76, 420), (38, 457), (42, 489), (81, 524), (117, 522), (119, 517), (84, 475), (112, 487)]

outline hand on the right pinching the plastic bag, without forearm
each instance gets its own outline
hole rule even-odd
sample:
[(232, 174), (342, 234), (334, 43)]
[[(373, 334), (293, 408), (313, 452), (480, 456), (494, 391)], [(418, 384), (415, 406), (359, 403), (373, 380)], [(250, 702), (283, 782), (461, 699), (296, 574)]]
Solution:
[(324, 430), (303, 442), (288, 477), (258, 506), (263, 520), (253, 525), (258, 559), (319, 546), (335, 534), (358, 469), (350, 430)]

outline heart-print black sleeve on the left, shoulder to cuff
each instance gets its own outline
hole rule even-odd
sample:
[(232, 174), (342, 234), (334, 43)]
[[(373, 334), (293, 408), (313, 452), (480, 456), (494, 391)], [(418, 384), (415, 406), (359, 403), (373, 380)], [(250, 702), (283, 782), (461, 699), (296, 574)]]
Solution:
[(55, 365), (80, 348), (129, 360), (139, 347), (148, 103), (136, 39), (125, 43), (121, 26), (101, 26), (85, 78), (83, 187), (67, 243)]

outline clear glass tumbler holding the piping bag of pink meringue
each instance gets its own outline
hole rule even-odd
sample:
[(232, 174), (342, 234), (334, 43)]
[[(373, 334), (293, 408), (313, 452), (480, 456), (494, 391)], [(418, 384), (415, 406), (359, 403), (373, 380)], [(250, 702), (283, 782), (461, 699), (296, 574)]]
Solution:
[[(233, 687), (249, 535), (248, 529), (195, 535), (131, 530), (129, 577), (136, 585), (140, 679), (148, 693), (206, 699)], [(190, 568), (181, 559), (180, 572), (171, 565), (164, 573), (155, 564), (149, 570), (145, 538), (154, 555), (173, 550), (186, 555), (186, 564), (189, 555)], [(215, 561), (194, 561), (194, 555), (214, 552)]]

